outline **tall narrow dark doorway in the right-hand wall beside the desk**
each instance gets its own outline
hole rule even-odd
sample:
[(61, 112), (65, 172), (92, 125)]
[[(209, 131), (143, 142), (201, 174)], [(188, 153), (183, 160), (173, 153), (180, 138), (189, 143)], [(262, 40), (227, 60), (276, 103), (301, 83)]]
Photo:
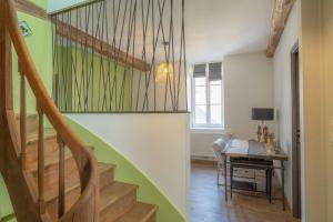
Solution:
[(291, 51), (292, 79), (292, 200), (293, 216), (300, 219), (301, 200), (301, 123), (300, 123), (300, 54), (299, 42)]

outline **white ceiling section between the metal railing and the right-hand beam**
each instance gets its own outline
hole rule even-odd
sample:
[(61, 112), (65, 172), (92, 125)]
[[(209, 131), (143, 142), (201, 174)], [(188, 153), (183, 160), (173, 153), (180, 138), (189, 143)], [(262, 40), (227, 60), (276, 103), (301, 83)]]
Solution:
[(186, 0), (185, 6), (188, 61), (265, 50), (273, 0)]

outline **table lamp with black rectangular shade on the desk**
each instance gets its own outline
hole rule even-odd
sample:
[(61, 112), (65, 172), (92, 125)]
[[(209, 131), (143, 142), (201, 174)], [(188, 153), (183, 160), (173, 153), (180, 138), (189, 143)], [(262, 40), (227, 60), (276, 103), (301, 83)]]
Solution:
[[(252, 120), (262, 121), (263, 128), (258, 125), (258, 141), (259, 142), (268, 142), (269, 138), (269, 128), (264, 125), (264, 121), (273, 121), (274, 120), (274, 109), (272, 108), (252, 108)], [(262, 129), (262, 130), (261, 130)], [(263, 132), (262, 132), (263, 131)]]

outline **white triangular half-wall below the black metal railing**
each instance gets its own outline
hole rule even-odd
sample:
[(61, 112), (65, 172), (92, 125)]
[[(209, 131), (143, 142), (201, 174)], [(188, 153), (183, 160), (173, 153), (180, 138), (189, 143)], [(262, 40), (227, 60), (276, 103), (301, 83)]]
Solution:
[(188, 215), (189, 114), (69, 114), (109, 142)]

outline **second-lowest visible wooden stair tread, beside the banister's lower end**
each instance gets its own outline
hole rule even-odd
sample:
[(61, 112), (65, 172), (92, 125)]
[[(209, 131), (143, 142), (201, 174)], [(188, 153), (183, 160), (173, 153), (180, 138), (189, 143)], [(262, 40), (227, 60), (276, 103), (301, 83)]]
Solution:
[(103, 188), (100, 194), (100, 211), (103, 211), (109, 205), (115, 203), (122, 196), (138, 189), (138, 185), (113, 182), (112, 184)]

